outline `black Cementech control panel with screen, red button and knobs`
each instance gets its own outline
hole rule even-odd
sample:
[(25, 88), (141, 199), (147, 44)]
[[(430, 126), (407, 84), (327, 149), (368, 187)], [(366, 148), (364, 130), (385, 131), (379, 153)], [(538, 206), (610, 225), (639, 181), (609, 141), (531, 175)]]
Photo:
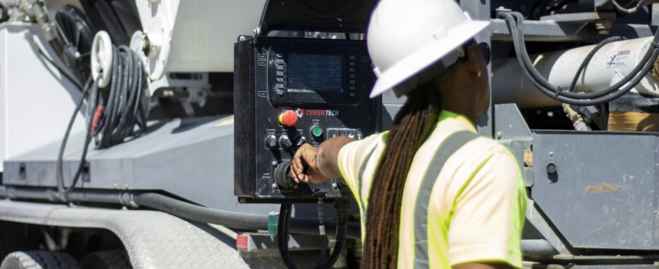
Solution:
[(302, 144), (379, 131), (381, 100), (363, 40), (247, 38), (235, 44), (235, 179), (239, 201), (313, 202), (350, 195), (341, 180), (294, 184)]

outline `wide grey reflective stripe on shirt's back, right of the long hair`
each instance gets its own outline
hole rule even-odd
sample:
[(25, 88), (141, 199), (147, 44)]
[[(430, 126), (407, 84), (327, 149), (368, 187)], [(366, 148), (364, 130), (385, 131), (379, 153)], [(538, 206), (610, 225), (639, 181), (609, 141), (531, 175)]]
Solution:
[(441, 146), (437, 149), (423, 181), (418, 188), (416, 195), (416, 206), (414, 207), (414, 268), (429, 268), (428, 265), (428, 203), (430, 203), (430, 192), (435, 180), (439, 176), (441, 168), (446, 164), (446, 160), (453, 155), (457, 149), (467, 144), (469, 141), (478, 138), (475, 132), (460, 131), (450, 134), (449, 137), (442, 141)]

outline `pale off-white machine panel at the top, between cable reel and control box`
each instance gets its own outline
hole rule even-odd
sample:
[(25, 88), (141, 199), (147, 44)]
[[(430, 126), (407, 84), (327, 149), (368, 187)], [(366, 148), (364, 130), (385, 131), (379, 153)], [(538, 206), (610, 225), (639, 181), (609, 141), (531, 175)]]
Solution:
[(259, 26), (265, 0), (135, 3), (144, 33), (169, 36), (169, 44), (160, 44), (160, 52), (169, 54), (158, 55), (167, 62), (166, 72), (233, 72), (234, 43), (239, 35), (250, 36)]

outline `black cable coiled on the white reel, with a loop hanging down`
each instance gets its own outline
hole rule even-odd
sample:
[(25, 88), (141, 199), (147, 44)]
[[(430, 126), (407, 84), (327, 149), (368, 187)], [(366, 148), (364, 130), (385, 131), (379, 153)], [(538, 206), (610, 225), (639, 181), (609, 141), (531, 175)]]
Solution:
[[(84, 174), (86, 156), (91, 138), (96, 139), (96, 148), (109, 148), (125, 141), (128, 137), (137, 137), (146, 128), (146, 112), (142, 106), (144, 91), (144, 69), (135, 52), (126, 45), (113, 46), (111, 83), (105, 89), (98, 87), (98, 79), (87, 80), (82, 91), (82, 98), (77, 103), (62, 139), (56, 162), (56, 180), (59, 199), (69, 201), (68, 194)], [(91, 92), (91, 95), (89, 93)], [(88, 98), (89, 95), (89, 98)], [(87, 100), (85, 138), (80, 163), (71, 185), (64, 186), (63, 155), (75, 118)], [(139, 130), (135, 130), (135, 125)]]

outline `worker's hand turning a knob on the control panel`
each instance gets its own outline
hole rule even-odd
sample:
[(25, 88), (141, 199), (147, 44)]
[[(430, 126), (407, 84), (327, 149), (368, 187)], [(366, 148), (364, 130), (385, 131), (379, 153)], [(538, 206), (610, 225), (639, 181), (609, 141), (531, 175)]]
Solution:
[(318, 149), (310, 144), (303, 144), (293, 156), (291, 164), (291, 178), (295, 183), (324, 183), (328, 177), (318, 171), (316, 157)]

